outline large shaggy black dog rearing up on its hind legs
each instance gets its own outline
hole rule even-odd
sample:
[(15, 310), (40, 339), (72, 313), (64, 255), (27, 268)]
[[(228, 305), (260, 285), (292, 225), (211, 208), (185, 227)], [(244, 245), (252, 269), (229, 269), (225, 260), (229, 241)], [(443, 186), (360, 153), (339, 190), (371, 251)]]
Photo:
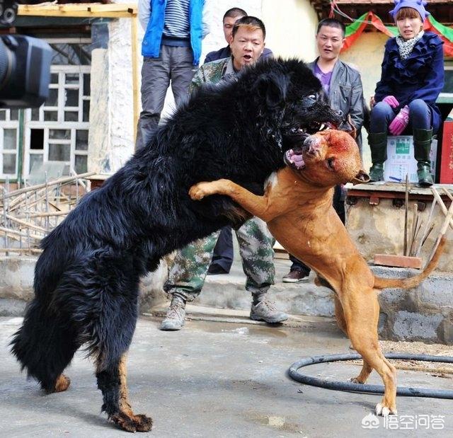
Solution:
[(125, 383), (140, 277), (172, 250), (245, 219), (228, 197), (190, 200), (190, 186), (228, 178), (262, 192), (306, 131), (340, 121), (320, 94), (321, 83), (296, 60), (263, 62), (202, 87), (86, 195), (42, 242), (35, 298), (11, 342), (28, 375), (47, 392), (64, 391), (62, 372), (86, 344), (108, 418), (130, 432), (150, 430), (151, 418), (132, 413)]

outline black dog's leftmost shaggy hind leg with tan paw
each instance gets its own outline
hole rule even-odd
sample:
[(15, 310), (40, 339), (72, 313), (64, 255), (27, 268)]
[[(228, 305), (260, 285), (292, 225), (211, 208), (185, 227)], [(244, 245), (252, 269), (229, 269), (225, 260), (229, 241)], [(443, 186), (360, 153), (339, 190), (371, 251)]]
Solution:
[(69, 387), (70, 380), (62, 372), (79, 348), (76, 334), (61, 315), (47, 309), (39, 299), (30, 302), (11, 345), (22, 369), (37, 379), (47, 393)]

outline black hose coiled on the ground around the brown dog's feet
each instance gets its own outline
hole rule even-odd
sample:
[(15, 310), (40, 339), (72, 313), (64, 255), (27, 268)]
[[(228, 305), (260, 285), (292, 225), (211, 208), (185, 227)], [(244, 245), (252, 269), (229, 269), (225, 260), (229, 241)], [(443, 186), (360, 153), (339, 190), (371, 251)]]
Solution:
[[(384, 356), (387, 359), (423, 360), (426, 362), (443, 362), (447, 364), (453, 364), (453, 357), (450, 356), (406, 355), (404, 353), (387, 353)], [(305, 374), (301, 374), (299, 373), (299, 371), (297, 371), (299, 368), (307, 367), (308, 365), (354, 359), (362, 359), (362, 356), (355, 353), (347, 353), (345, 355), (306, 357), (305, 359), (299, 360), (299, 362), (294, 362), (294, 364), (289, 367), (288, 372), (289, 376), (292, 379), (302, 382), (302, 384), (306, 385), (319, 386), (321, 388), (334, 389), (336, 391), (348, 391), (353, 393), (383, 394), (384, 386), (382, 385), (365, 385), (354, 384), (352, 382), (328, 381), (325, 379), (306, 376)], [(404, 386), (398, 386), (396, 388), (396, 395), (408, 397), (453, 398), (453, 391), (446, 391), (444, 389), (408, 388)]]

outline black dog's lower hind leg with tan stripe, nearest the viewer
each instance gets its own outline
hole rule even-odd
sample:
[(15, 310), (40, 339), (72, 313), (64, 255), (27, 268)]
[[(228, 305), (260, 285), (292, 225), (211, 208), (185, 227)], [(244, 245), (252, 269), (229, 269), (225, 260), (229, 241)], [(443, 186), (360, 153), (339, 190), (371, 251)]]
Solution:
[(104, 368), (101, 363), (96, 367), (98, 388), (103, 394), (102, 409), (118, 427), (127, 432), (148, 432), (152, 420), (146, 415), (134, 415), (127, 396), (126, 355)]

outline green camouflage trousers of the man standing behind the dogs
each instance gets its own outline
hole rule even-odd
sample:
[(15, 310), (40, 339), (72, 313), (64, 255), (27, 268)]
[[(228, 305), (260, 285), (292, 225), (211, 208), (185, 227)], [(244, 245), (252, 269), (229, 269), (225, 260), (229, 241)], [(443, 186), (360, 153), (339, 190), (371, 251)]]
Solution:
[[(164, 289), (193, 301), (200, 294), (212, 260), (220, 231), (200, 238), (178, 250)], [(265, 222), (258, 217), (246, 221), (236, 230), (246, 289), (252, 294), (264, 294), (274, 284), (274, 238)]]

